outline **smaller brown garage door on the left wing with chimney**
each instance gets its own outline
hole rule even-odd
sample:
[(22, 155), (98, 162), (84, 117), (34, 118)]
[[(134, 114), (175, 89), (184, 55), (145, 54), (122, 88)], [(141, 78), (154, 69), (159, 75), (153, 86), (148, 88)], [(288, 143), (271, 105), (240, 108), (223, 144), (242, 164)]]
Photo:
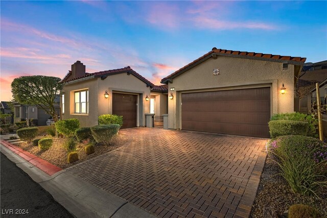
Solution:
[(112, 93), (112, 114), (123, 116), (122, 129), (136, 127), (137, 95)]

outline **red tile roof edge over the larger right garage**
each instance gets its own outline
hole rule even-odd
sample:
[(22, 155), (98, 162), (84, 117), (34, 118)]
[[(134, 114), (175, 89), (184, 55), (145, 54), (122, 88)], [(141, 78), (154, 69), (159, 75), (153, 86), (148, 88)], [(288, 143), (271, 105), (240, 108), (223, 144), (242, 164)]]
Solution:
[[(179, 74), (181, 74), (181, 71), (186, 71), (187, 69), (193, 67), (193, 64), (196, 64), (197, 62), (201, 61), (202, 59), (206, 57), (211, 57), (212, 54), (216, 55), (222, 55), (222, 56), (235, 56), (235, 57), (242, 57), (243, 58), (253, 58), (253, 59), (259, 59), (259, 60), (266, 60), (271, 61), (274, 60), (281, 60), (281, 62), (284, 61), (293, 61), (293, 62), (298, 62), (299, 64), (305, 63), (307, 58), (301, 58), (301, 57), (291, 57), (291, 56), (281, 56), (281, 55), (271, 55), (271, 54), (263, 54), (263, 53), (254, 53), (254, 52), (240, 52), (240, 51), (232, 51), (232, 50), (223, 50), (223, 49), (217, 49), (216, 47), (213, 47), (212, 51), (206, 53), (205, 55), (201, 56), (200, 58), (192, 61), (188, 65), (183, 66), (182, 68), (176, 70), (173, 72), (171, 75), (168, 77), (165, 77), (164, 79), (161, 80), (161, 83), (167, 83), (169, 79), (172, 79), (172, 77), (176, 77)], [(209, 58), (208, 57), (208, 58)], [(193, 65), (193, 66), (191, 66)], [(187, 69), (186, 69), (187, 68)], [(176, 75), (176, 76), (175, 76)]]

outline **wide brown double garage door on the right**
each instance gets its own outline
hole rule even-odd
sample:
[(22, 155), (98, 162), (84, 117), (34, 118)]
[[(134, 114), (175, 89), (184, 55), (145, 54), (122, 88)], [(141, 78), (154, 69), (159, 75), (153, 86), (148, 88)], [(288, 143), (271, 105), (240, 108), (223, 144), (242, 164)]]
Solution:
[(270, 88), (182, 93), (182, 129), (269, 137)]

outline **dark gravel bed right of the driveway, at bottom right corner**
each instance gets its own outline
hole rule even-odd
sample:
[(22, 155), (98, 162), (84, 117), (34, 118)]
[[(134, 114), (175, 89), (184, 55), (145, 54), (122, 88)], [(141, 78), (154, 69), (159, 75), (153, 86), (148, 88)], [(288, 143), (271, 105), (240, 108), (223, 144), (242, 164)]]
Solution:
[(250, 217), (264, 217), (264, 207), (273, 207), (278, 217), (292, 204), (305, 204), (319, 210), (323, 217), (327, 217), (327, 190), (319, 191), (319, 198), (315, 196), (301, 196), (293, 193), (286, 180), (280, 176), (278, 165), (268, 156), (262, 172), (258, 192), (256, 194)]

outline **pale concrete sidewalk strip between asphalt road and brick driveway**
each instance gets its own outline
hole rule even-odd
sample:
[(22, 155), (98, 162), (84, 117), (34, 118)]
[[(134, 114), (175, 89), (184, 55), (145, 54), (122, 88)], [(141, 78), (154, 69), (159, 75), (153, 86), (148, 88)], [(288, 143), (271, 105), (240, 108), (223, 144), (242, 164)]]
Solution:
[[(22, 158), (21, 156), (24, 155), (18, 155), (17, 153), (20, 152), (17, 149), (7, 147), (8, 142), (1, 141), (1, 153), (26, 172), (35, 182), (48, 191), (59, 204), (76, 217), (155, 217), (124, 199), (68, 173), (64, 169), (59, 172), (57, 172), (58, 170), (55, 171), (57, 173), (54, 173), (54, 171), (51, 171), (52, 173), (45, 171), (47, 172), (45, 173), (40, 169), (42, 167), (36, 167), (35, 164), (32, 164), (33, 156), (25, 155), (25, 158)], [(49, 164), (46, 167), (56, 168)]]

